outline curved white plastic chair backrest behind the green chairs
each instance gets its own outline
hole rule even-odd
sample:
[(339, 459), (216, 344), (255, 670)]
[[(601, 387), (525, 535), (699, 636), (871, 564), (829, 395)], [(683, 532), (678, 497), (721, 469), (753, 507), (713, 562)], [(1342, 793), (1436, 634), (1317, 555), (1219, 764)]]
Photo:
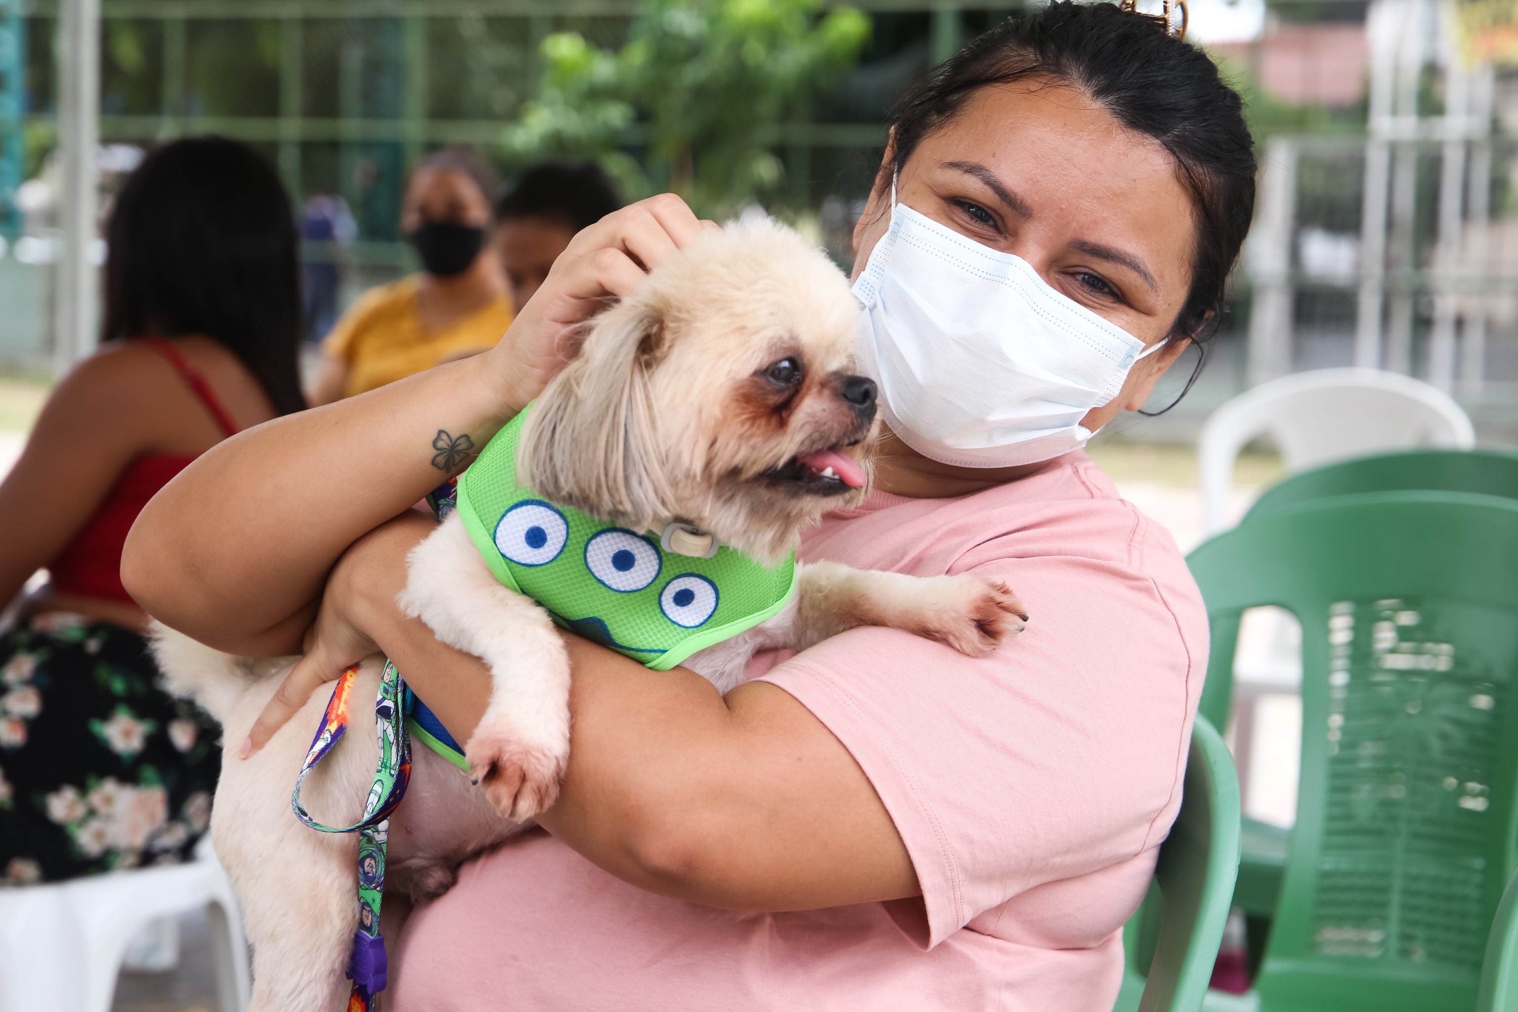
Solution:
[(1239, 451), (1271, 435), (1287, 473), (1336, 460), (1418, 446), (1469, 449), (1471, 419), (1435, 387), (1380, 369), (1315, 369), (1271, 379), (1213, 411), (1198, 443), (1202, 522), (1230, 526)]

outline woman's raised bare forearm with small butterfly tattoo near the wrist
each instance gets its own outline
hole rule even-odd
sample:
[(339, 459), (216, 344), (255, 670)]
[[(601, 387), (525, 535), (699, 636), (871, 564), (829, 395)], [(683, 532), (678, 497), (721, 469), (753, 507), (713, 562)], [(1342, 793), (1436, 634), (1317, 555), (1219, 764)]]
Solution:
[(213, 646), (299, 651), (337, 557), (521, 410), (499, 375), (481, 355), (220, 443), (143, 510), (121, 558), (128, 590)]

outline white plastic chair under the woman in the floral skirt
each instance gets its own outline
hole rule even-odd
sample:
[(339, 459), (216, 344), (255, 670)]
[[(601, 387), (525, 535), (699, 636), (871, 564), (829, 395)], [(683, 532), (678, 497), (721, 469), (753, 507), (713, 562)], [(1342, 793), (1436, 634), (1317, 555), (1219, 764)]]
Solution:
[(109, 1012), (132, 938), (202, 906), (222, 1012), (243, 1012), (247, 941), (232, 883), (209, 853), (184, 865), (0, 889), (0, 1012)]

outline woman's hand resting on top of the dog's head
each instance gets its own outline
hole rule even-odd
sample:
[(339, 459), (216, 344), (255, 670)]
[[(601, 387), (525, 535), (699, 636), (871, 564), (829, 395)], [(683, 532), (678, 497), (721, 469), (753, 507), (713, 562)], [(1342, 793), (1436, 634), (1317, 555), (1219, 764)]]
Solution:
[(483, 357), (502, 379), (509, 404), (525, 407), (575, 357), (581, 323), (633, 293), (671, 252), (715, 228), (676, 194), (662, 193), (580, 231), (505, 337)]

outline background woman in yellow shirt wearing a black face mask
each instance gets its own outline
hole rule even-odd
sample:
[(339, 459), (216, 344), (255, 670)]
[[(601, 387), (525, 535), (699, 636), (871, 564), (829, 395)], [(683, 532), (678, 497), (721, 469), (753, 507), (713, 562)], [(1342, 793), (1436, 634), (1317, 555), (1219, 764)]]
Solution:
[(401, 229), (422, 273), (373, 288), (323, 343), (313, 405), (383, 387), (481, 352), (512, 325), (512, 299), (490, 228), (489, 182), (469, 158), (443, 152), (411, 173)]

